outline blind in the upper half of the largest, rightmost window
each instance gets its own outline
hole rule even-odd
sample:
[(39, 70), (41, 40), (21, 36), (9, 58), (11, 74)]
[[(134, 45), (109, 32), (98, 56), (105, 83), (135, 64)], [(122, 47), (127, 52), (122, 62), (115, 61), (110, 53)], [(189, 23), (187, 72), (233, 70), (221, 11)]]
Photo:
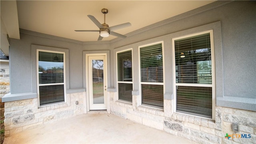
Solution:
[(210, 34), (175, 40), (176, 83), (212, 84)]

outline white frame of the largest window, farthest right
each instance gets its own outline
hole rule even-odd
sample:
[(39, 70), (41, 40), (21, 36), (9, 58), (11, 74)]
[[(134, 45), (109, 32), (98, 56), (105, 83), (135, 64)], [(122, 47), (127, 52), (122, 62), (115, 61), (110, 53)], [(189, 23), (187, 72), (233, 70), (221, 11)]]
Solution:
[[(198, 36), (201, 34), (210, 33), (210, 42), (211, 42), (211, 60), (212, 60), (212, 84), (185, 84), (185, 83), (176, 83), (176, 65), (175, 65), (175, 44), (174, 40), (179, 40), (182, 38), (188, 38), (192, 36)], [(212, 118), (206, 118), (203, 116), (196, 116), (192, 114), (186, 114), (182, 112), (176, 112), (188, 116), (194, 116), (199, 118), (205, 118), (210, 120), (215, 120), (215, 107), (216, 107), (216, 80), (215, 80), (215, 54), (214, 54), (214, 37), (213, 37), (213, 30), (207, 30), (204, 32), (198, 32), (194, 34), (188, 34), (186, 36), (180, 36), (177, 38), (172, 38), (172, 61), (173, 61), (173, 94), (174, 94), (174, 112), (176, 112), (177, 106), (177, 95), (176, 95), (176, 86), (196, 86), (196, 87), (212, 87)]]

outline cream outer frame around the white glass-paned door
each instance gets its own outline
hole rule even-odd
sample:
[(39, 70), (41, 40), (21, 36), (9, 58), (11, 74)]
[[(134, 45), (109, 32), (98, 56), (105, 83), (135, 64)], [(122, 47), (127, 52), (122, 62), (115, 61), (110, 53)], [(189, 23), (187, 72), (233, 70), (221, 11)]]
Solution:
[(106, 60), (106, 105), (107, 112), (110, 113), (110, 94), (108, 88), (110, 87), (110, 50), (94, 50), (83, 51), (83, 88), (86, 89), (86, 108), (85, 113), (90, 111), (89, 103), (89, 89), (88, 89), (88, 56), (105, 56)]

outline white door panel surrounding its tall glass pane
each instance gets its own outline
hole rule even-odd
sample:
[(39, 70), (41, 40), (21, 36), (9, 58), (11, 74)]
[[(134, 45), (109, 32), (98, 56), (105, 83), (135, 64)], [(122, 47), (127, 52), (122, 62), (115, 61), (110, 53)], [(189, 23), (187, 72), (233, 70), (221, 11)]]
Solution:
[(88, 56), (88, 88), (90, 110), (106, 110), (105, 56)]

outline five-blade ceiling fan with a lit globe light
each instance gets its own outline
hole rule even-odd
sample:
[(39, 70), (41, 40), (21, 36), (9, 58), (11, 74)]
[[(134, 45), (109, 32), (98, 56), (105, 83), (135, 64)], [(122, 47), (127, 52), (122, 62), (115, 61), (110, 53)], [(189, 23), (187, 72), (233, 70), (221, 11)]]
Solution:
[(106, 14), (108, 13), (108, 9), (103, 8), (101, 10), (101, 12), (104, 14), (104, 23), (100, 24), (100, 22), (92, 15), (87, 15), (92, 22), (94, 22), (94, 24), (96, 24), (96, 26), (98, 26), (98, 28), (100, 28), (100, 30), (75, 30), (76, 32), (100, 32), (100, 36), (98, 38), (98, 40), (102, 40), (103, 37), (108, 37), (109, 35), (112, 36), (118, 36), (120, 38), (126, 38), (126, 36), (122, 35), (122, 34), (118, 34), (116, 32), (113, 32), (114, 30), (118, 30), (121, 28), (126, 28), (128, 26), (131, 26), (132, 24), (130, 22), (126, 22), (124, 24), (118, 24), (116, 26), (108, 26), (108, 24), (105, 23), (105, 18), (106, 18)]

